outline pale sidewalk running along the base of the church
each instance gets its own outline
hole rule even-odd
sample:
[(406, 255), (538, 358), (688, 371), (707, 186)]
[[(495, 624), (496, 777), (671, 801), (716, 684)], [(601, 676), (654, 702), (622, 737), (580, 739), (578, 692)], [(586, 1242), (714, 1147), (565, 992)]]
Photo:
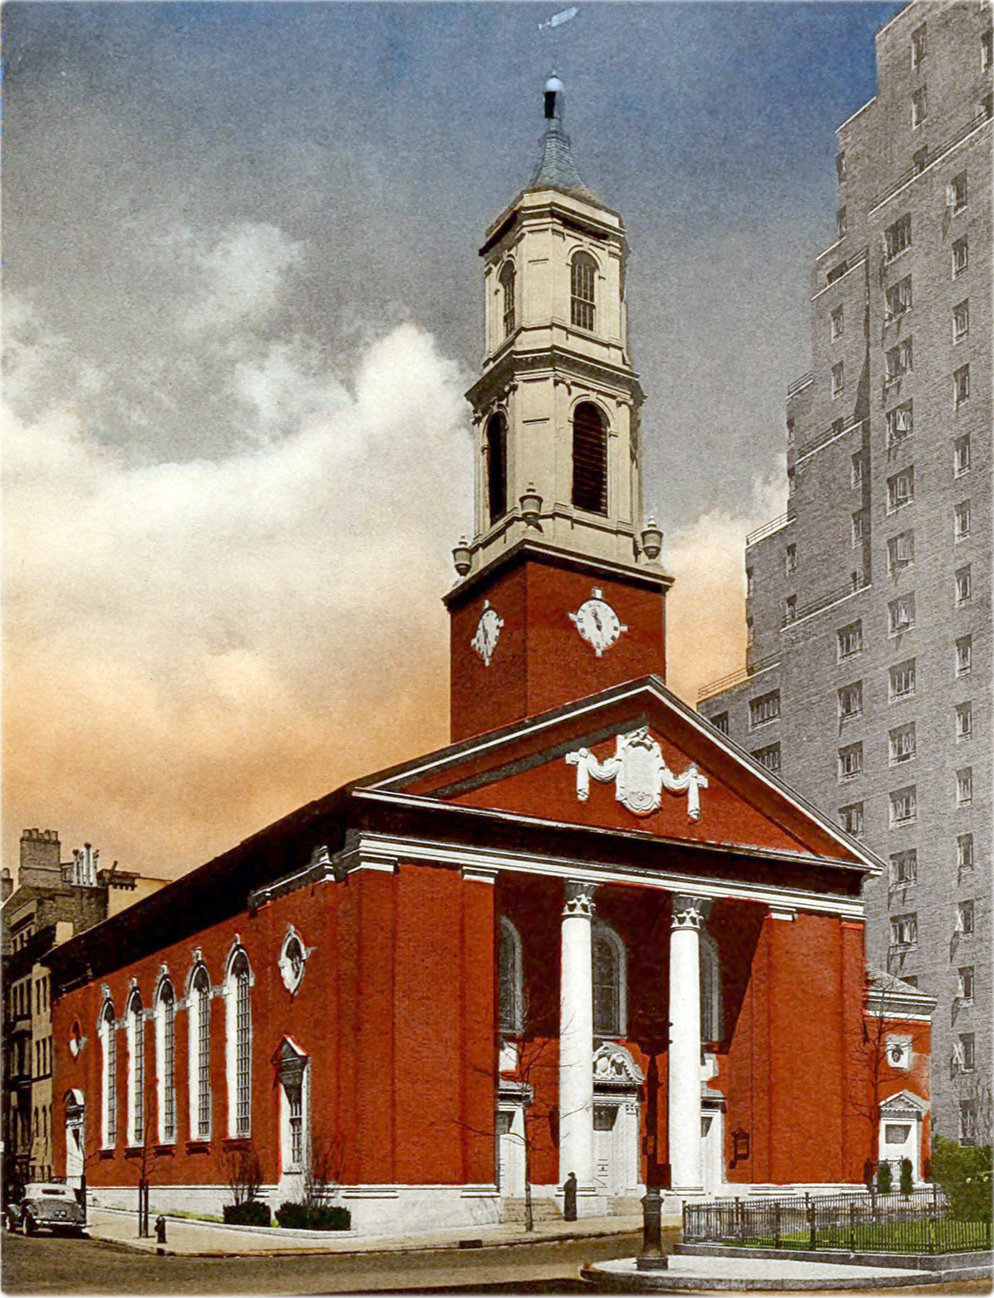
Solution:
[[(550, 1240), (589, 1240), (598, 1236), (641, 1232), (642, 1218), (584, 1218), (580, 1221), (536, 1221), (526, 1232), (520, 1223), (467, 1227), (461, 1231), (432, 1231), (410, 1236), (339, 1234), (332, 1231), (282, 1231), (278, 1227), (224, 1227), (213, 1221), (191, 1221), (166, 1216), (166, 1242), (158, 1245), (154, 1233), (149, 1240), (138, 1237), (138, 1214), (117, 1208), (95, 1208), (88, 1212), (87, 1232), (93, 1240), (122, 1243), (143, 1253), (164, 1253), (186, 1258), (278, 1256), (285, 1254), (326, 1253), (411, 1253), (437, 1249), (466, 1249), (465, 1241), (479, 1241), (484, 1247), (537, 1243)], [(679, 1227), (679, 1220), (664, 1225)], [(154, 1227), (154, 1216), (152, 1220)], [(472, 1245), (470, 1245), (472, 1246)]]

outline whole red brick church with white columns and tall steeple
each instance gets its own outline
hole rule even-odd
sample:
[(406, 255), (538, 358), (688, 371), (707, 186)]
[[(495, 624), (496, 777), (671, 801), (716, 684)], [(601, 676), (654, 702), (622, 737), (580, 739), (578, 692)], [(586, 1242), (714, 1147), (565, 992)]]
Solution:
[[(62, 1169), (361, 1232), (862, 1182), (928, 1149), (933, 1002), (867, 981), (881, 864), (664, 685), (624, 226), (545, 92), (480, 254), (452, 744), (300, 807), (55, 957)], [(527, 1138), (524, 1138), (527, 1134)]]

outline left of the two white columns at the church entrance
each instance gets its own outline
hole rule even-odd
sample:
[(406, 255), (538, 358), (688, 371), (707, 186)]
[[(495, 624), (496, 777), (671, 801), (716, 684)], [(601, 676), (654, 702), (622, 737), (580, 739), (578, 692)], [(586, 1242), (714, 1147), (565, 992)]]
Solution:
[[(593, 922), (594, 884), (566, 884), (559, 981), (559, 1185), (576, 1173), (577, 1202), (593, 1177)], [(583, 1208), (580, 1207), (580, 1211)]]

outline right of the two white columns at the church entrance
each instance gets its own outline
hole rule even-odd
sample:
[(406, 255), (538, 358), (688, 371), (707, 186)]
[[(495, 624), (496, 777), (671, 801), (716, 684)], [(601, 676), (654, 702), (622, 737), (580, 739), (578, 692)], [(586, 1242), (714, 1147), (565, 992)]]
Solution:
[(673, 897), (670, 932), (670, 1169), (673, 1190), (703, 1189), (701, 1150), (701, 924), (711, 903)]

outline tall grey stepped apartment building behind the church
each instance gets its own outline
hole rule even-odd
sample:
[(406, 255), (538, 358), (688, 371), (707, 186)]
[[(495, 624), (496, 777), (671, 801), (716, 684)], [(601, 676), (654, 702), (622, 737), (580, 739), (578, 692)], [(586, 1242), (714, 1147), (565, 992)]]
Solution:
[(914, 0), (838, 129), (838, 238), (746, 544), (746, 670), (699, 710), (885, 862), (872, 964), (938, 1001), (933, 1124), (990, 1140), (991, 10)]

